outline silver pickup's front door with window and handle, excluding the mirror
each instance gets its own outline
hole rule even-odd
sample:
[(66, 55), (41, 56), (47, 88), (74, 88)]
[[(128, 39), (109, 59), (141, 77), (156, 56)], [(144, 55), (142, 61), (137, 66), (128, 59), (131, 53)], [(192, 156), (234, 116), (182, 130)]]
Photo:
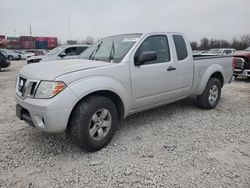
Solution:
[[(140, 66), (135, 59), (142, 53), (156, 52), (157, 59)], [(136, 49), (131, 61), (133, 110), (164, 103), (175, 98), (176, 71), (166, 35), (147, 37)]]

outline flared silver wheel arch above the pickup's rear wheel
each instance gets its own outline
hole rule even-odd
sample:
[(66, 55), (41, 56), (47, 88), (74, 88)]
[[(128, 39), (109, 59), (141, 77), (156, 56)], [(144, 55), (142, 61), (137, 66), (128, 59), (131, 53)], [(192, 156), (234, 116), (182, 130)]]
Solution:
[(198, 87), (198, 95), (201, 95), (207, 85), (207, 82), (209, 80), (209, 78), (212, 76), (212, 74), (214, 74), (215, 72), (220, 72), (222, 74), (223, 80), (224, 80), (224, 71), (223, 68), (218, 65), (218, 64), (214, 64), (211, 65), (210, 67), (208, 67), (208, 69), (205, 71), (205, 73), (202, 76), (200, 85)]

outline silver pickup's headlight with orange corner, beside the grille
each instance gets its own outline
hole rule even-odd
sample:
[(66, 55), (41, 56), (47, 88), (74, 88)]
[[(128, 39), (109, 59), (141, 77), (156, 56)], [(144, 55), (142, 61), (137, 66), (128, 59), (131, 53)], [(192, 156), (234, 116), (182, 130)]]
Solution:
[(66, 88), (63, 82), (41, 81), (35, 94), (35, 98), (49, 99)]

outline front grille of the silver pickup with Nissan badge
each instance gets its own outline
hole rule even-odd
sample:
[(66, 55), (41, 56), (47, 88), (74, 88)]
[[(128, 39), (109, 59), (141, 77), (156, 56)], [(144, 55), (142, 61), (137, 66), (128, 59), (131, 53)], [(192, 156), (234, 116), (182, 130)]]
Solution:
[(23, 76), (19, 76), (17, 79), (16, 93), (23, 98), (34, 97), (37, 87), (37, 81), (29, 80)]

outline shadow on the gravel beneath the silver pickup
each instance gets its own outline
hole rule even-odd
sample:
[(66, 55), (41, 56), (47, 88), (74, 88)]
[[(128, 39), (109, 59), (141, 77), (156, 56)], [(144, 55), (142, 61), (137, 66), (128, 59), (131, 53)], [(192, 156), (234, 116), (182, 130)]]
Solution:
[[(170, 119), (174, 114), (178, 113), (179, 115), (181, 115), (181, 113), (185, 113), (190, 109), (197, 111), (200, 110), (195, 104), (196, 101), (194, 98), (187, 98), (172, 104), (131, 115), (121, 121), (113, 140), (107, 147), (115, 147), (114, 145), (117, 142), (119, 143), (119, 139), (123, 137), (124, 131), (129, 132), (133, 129), (143, 127), (145, 126), (145, 124), (154, 125), (155, 122), (159, 120), (164, 122), (165, 120), (167, 121), (168, 119)], [(41, 132), (33, 128), (29, 128), (29, 130), (29, 142), (32, 143), (32, 147), (39, 146), (40, 150), (43, 150), (41, 151), (41, 153), (45, 158), (47, 157), (46, 155), (51, 155), (51, 153), (53, 154), (53, 156), (67, 156), (70, 153), (74, 153), (74, 155), (77, 156), (88, 156), (90, 154), (78, 148), (74, 143), (70, 141), (70, 139), (68, 139), (65, 134), (54, 135)], [(106, 148), (98, 152), (105, 152)]]

